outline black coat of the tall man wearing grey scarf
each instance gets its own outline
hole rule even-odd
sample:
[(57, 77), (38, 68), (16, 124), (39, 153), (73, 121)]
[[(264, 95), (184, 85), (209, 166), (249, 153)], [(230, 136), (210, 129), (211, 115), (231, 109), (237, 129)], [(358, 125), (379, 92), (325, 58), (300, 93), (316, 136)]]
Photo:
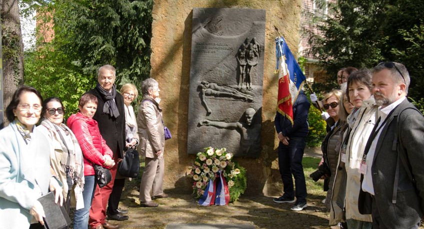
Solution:
[(125, 111), (123, 97), (116, 92), (115, 103), (119, 111), (117, 118), (112, 118), (108, 114), (103, 114), (104, 101), (101, 99), (100, 93), (96, 88), (89, 90), (90, 93), (97, 97), (97, 110), (93, 119), (98, 122), (98, 129), (101, 136), (106, 141), (106, 145), (112, 150), (113, 155), (118, 150), (119, 158), (123, 158), (123, 150), (125, 147)]

